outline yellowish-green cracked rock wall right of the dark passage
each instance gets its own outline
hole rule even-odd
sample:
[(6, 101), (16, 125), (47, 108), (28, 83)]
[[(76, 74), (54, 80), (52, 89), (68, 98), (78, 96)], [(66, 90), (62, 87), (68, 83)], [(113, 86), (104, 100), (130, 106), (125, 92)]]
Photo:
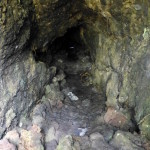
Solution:
[(107, 107), (131, 117), (150, 138), (149, 5), (146, 0), (101, 1), (101, 20), (83, 27), (81, 36), (95, 64), (93, 83), (106, 93)]

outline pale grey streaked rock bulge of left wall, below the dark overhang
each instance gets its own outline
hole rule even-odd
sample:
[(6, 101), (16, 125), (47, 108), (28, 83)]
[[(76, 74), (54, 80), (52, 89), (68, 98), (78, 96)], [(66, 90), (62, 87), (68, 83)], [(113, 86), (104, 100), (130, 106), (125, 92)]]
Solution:
[[(33, 56), (27, 55), (19, 64), (14, 63), (8, 70), (1, 84), (1, 126), (9, 128), (16, 125), (20, 118), (26, 118), (50, 79), (50, 72), (44, 63), (35, 63)], [(6, 90), (7, 89), (7, 90)], [(5, 116), (6, 113), (6, 117)]]

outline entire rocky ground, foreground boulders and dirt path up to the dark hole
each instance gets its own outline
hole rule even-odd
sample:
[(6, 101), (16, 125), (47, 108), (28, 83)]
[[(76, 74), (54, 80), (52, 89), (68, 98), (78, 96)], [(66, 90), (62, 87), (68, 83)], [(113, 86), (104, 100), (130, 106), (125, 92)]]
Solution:
[(105, 110), (105, 96), (90, 82), (90, 58), (78, 56), (71, 61), (68, 52), (56, 54), (45, 95), (30, 116), (3, 136), (0, 150), (149, 149), (121, 112)]

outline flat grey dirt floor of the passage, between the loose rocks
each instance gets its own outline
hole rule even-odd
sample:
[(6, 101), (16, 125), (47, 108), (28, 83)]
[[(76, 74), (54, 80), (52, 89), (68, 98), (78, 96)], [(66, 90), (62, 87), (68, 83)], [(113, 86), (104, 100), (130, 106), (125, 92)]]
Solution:
[[(105, 108), (104, 98), (96, 89), (85, 86), (79, 75), (69, 75), (67, 85), (63, 89), (64, 94), (66, 93), (65, 100), (59, 104), (60, 106), (52, 108), (49, 120), (59, 124), (57, 132), (60, 132), (61, 135), (80, 136), (81, 130), (87, 130), (85, 134), (89, 135), (102, 123), (101, 115)], [(71, 100), (67, 96), (69, 92), (77, 96), (78, 100)], [(111, 133), (113, 133), (112, 130)]]

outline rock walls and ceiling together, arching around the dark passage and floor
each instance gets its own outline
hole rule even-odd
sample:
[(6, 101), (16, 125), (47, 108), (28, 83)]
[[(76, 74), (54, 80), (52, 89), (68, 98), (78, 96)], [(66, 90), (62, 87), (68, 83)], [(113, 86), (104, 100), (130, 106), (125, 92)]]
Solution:
[(26, 120), (55, 74), (37, 55), (50, 63), (51, 43), (77, 25), (107, 106), (150, 139), (149, 0), (0, 1), (0, 136)]

